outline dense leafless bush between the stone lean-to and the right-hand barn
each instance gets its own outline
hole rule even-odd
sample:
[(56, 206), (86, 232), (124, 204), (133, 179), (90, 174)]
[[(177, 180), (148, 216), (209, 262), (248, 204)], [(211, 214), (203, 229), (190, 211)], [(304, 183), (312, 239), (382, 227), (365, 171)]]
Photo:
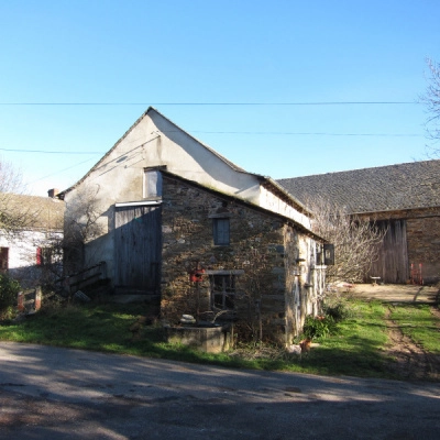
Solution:
[(334, 245), (334, 265), (328, 266), (326, 278), (330, 283), (362, 282), (378, 256), (386, 230), (372, 220), (351, 216), (330, 200), (316, 198), (306, 205), (314, 212), (314, 232)]

